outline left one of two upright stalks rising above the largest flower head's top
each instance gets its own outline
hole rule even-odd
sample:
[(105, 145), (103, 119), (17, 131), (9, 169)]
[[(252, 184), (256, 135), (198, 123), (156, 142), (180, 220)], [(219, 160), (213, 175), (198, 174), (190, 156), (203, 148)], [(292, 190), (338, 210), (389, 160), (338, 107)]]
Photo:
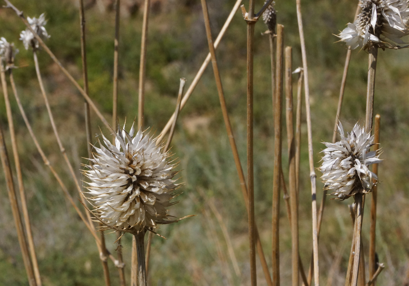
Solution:
[[(115, 0), (115, 38), (114, 38), (114, 90), (112, 95), (112, 127), (117, 131), (118, 118), (118, 56), (119, 56), (119, 19), (121, 0)], [(115, 137), (115, 134), (113, 135)]]

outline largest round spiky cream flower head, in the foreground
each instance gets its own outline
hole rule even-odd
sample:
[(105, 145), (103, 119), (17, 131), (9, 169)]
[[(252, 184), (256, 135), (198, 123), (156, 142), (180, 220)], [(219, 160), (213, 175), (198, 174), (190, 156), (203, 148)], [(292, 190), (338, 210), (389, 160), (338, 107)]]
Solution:
[(177, 173), (162, 153), (156, 138), (134, 127), (127, 133), (118, 126), (115, 145), (102, 135), (100, 148), (95, 147), (91, 164), (83, 174), (87, 182), (88, 200), (96, 215), (109, 227), (139, 232), (145, 227), (171, 223), (167, 207), (175, 197)]

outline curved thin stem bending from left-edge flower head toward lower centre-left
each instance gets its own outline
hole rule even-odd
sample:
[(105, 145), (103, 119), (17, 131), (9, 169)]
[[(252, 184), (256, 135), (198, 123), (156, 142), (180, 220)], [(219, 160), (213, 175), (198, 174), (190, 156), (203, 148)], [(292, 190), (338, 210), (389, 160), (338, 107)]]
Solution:
[[(13, 93), (14, 93), (14, 97), (16, 98), (17, 101), (17, 105), (18, 108), (20, 109), (20, 113), (23, 117), (23, 120), (27, 126), (27, 129), (31, 135), (31, 138), (34, 141), (34, 144), (36, 145), (36, 148), (38, 150), (38, 153), (40, 153), (41, 158), (43, 159), (44, 164), (49, 167), (51, 173), (53, 174), (53, 176), (56, 178), (58, 184), (61, 186), (61, 189), (63, 189), (63, 193), (64, 195), (67, 197), (67, 199), (70, 201), (71, 205), (74, 207), (75, 211), (77, 212), (77, 214), (79, 215), (79, 217), (81, 218), (81, 220), (83, 221), (83, 223), (85, 224), (85, 226), (88, 228), (88, 230), (90, 231), (90, 233), (92, 234), (92, 236), (94, 236), (95, 241), (97, 241), (97, 244), (101, 246), (101, 241), (99, 239), (99, 237), (97, 236), (95, 230), (93, 227), (90, 226), (90, 224), (88, 223), (87, 218), (84, 216), (84, 214), (80, 211), (80, 209), (78, 208), (78, 206), (75, 204), (74, 199), (72, 198), (72, 196), (70, 195), (70, 193), (68, 192), (67, 187), (65, 186), (65, 184), (63, 183), (63, 181), (61, 180), (60, 176), (58, 175), (58, 173), (55, 171), (54, 167), (52, 167), (52, 165), (50, 164), (47, 156), (45, 155), (43, 149), (40, 147), (40, 144), (38, 143), (38, 140), (36, 138), (36, 135), (34, 135), (34, 131), (31, 128), (31, 124), (27, 119), (27, 115), (25, 114), (24, 108), (21, 104), (20, 101), (20, 97), (18, 96), (17, 90), (16, 90), (16, 85), (14, 83), (14, 79), (13, 79), (13, 72), (10, 72), (10, 83), (11, 83), (11, 87), (13, 88)], [(108, 250), (106, 250), (108, 253), (108, 257), (114, 261), (114, 263), (116, 262), (116, 259), (112, 256), (112, 254), (110, 254), (108, 252)]]

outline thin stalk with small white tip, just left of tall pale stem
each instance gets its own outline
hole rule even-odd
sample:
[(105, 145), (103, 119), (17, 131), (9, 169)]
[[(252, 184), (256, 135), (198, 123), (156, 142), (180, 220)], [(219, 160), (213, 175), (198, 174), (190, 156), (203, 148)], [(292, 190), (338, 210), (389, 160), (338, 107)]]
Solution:
[[(300, 71), (297, 83), (297, 110), (295, 116), (295, 185), (297, 186), (297, 196), (299, 194), (300, 182), (300, 145), (301, 145), (301, 106), (303, 92), (304, 72)], [(309, 284), (308, 284), (309, 285)]]

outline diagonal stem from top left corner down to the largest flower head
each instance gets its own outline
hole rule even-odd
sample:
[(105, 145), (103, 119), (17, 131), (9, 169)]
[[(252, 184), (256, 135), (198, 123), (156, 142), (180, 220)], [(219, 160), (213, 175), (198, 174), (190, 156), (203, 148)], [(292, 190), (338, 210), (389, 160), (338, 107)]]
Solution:
[(38, 41), (38, 43), (41, 45), (41, 47), (43, 47), (43, 49), (45, 50), (45, 52), (47, 52), (47, 54), (49, 54), (49, 56), (51, 57), (51, 59), (58, 65), (58, 68), (60, 68), (60, 70), (65, 74), (65, 76), (74, 84), (74, 86), (79, 90), (79, 92), (81, 93), (81, 95), (85, 98), (85, 100), (88, 102), (88, 104), (90, 105), (90, 107), (92, 108), (92, 110), (94, 110), (94, 112), (97, 114), (97, 116), (99, 117), (99, 119), (101, 119), (101, 121), (103, 122), (103, 124), (108, 127), (110, 129), (110, 131), (114, 132), (114, 130), (112, 129), (112, 127), (109, 125), (108, 121), (105, 119), (105, 117), (103, 117), (102, 113), (98, 110), (97, 106), (94, 104), (94, 102), (92, 101), (92, 99), (90, 99), (90, 97), (88, 96), (88, 94), (85, 92), (85, 90), (83, 90), (83, 88), (81, 88), (81, 86), (76, 82), (76, 80), (72, 77), (72, 75), (63, 67), (63, 65), (61, 64), (60, 61), (58, 61), (58, 59), (56, 58), (56, 56), (51, 52), (51, 50), (47, 47), (47, 45), (45, 45), (45, 43), (43, 42), (43, 40), (40, 38), (40, 36), (37, 35), (37, 33), (33, 30), (33, 28), (31, 28), (31, 25), (27, 22), (26, 18), (23, 15), (23, 12), (18, 10), (13, 4), (11, 4), (11, 2), (9, 0), (4, 0), (4, 2), (6, 2), (7, 4), (7, 8), (11, 8), (13, 9), (13, 11), (17, 14), (17, 16), (19, 16), (21, 18), (21, 20), (23, 21), (23, 23), (27, 26), (27, 29), (29, 29), (31, 31), (31, 33), (33, 33), (34, 37), (36, 38), (36, 40)]

